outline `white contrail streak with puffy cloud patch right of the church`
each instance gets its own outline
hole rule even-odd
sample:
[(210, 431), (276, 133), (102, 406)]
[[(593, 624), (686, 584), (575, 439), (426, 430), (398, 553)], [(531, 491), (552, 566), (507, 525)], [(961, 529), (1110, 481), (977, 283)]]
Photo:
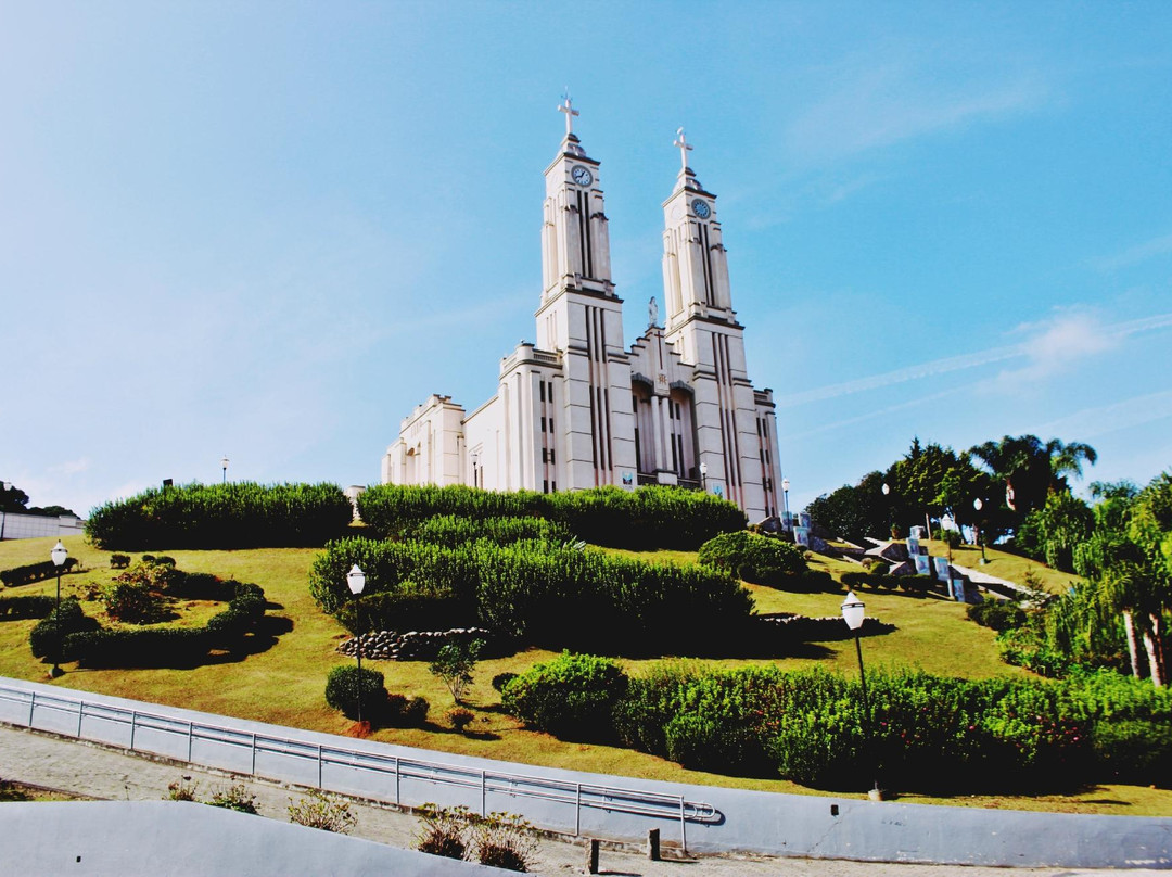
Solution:
[[(1142, 332), (1153, 332), (1172, 327), (1172, 313), (1156, 314), (1138, 320), (1102, 326), (1097, 319), (1086, 313), (1063, 313), (1048, 322), (1024, 324), (1015, 332), (1027, 335), (1026, 340), (1003, 347), (990, 347), (987, 351), (968, 353), (960, 356), (922, 362), (894, 372), (884, 372), (867, 378), (859, 378), (843, 383), (791, 393), (778, 396), (775, 402), (778, 408), (820, 402), (854, 393), (866, 393), (899, 383), (924, 380), (949, 372), (961, 372), (995, 362), (1026, 359), (1022, 368), (1002, 372), (996, 376), (1001, 385), (1021, 385), (1037, 381), (1070, 367), (1075, 362), (1112, 349), (1123, 339)], [(1001, 387), (1004, 389), (1004, 386)]]

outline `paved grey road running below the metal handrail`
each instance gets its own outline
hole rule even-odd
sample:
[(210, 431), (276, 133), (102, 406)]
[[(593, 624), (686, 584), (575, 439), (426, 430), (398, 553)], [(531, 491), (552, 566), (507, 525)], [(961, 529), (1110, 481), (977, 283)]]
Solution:
[[(223, 771), (202, 770), (190, 764), (156, 761), (91, 743), (76, 742), (48, 734), (0, 725), (0, 779), (57, 789), (102, 800), (157, 801), (166, 796), (166, 787), (183, 776), (198, 783), (197, 795), (210, 797), (220, 788), (243, 783), (255, 795), (263, 816), (288, 820), (291, 801), (302, 795), (278, 783)], [(354, 835), (393, 847), (410, 848), (418, 821), (394, 808), (354, 802), (357, 816)], [(581, 873), (585, 851), (580, 844), (544, 838), (537, 854), (534, 873), (546, 877)], [(604, 849), (600, 858), (604, 875), (614, 877), (1101, 877), (1165, 875), (1150, 870), (1069, 870), (1056, 868), (1007, 869), (961, 868), (956, 865), (902, 865), (841, 862), (827, 859), (704, 856), (689, 861), (650, 862), (629, 849)]]

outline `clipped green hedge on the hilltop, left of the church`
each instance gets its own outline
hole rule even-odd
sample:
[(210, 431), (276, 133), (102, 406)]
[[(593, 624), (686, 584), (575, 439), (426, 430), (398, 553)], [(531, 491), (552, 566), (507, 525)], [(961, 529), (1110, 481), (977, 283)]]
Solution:
[(319, 546), (346, 531), (353, 507), (336, 484), (186, 484), (95, 509), (86, 535), (100, 549)]

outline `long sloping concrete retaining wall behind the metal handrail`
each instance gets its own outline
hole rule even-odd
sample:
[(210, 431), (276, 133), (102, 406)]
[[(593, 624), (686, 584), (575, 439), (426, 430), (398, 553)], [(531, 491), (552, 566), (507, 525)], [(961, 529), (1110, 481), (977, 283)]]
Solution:
[[(70, 701), (53, 700), (79, 696), (89, 703), (81, 714), (70, 709)], [(115, 709), (145, 715), (131, 726)], [(83, 739), (132, 742), (132, 748), (180, 761), (407, 805), (432, 801), (507, 810), (566, 834), (638, 842), (649, 828), (659, 828), (665, 843), (679, 844), (686, 831), (693, 851), (1172, 869), (1172, 818), (929, 807), (653, 782), (350, 740), (12, 679), (0, 679), (0, 721), (68, 736), (80, 728)], [(189, 736), (200, 723), (223, 730)], [(645, 814), (620, 811), (632, 803)]]

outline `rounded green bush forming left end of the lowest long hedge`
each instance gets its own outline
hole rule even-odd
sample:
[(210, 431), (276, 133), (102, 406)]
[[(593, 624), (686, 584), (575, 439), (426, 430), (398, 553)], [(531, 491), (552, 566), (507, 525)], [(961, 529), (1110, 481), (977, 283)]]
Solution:
[(627, 675), (613, 661), (563, 652), (511, 679), (500, 703), (538, 730), (566, 740), (606, 742), (613, 737), (612, 709), (626, 688)]

